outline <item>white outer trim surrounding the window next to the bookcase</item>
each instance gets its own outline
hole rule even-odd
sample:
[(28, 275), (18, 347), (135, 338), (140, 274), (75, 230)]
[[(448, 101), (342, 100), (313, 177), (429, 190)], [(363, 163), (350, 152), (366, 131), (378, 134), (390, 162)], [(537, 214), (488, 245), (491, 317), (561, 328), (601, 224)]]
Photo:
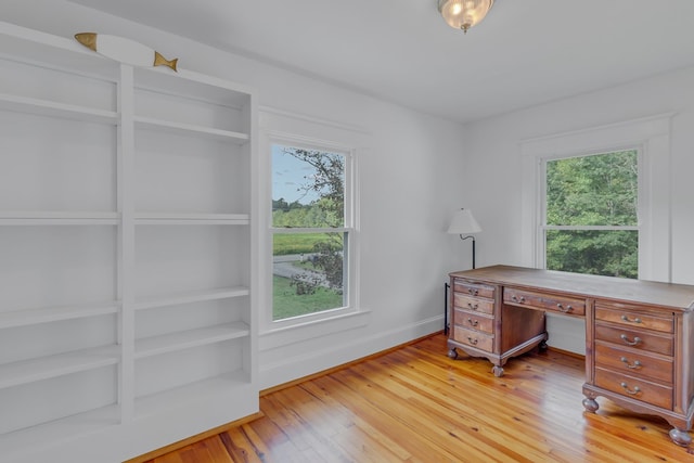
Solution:
[[(271, 146), (273, 144), (282, 144), (286, 146), (303, 147), (307, 150), (318, 150), (325, 152), (334, 152), (343, 154), (346, 157), (345, 165), (345, 182), (347, 192), (349, 193), (345, 197), (345, 223), (348, 227), (339, 229), (330, 229), (333, 231), (347, 231), (349, 232), (349, 241), (347, 248), (347, 306), (336, 309), (323, 310), (316, 313), (308, 313), (305, 316), (294, 317), (284, 320), (272, 320), (272, 211), (268, 207), (272, 197), (272, 178), (271, 172)], [(267, 230), (261, 236), (261, 249), (260, 249), (260, 287), (264, 288), (264, 294), (258, 295), (260, 299), (260, 333), (280, 333), (287, 330), (301, 329), (306, 326), (313, 326), (317, 323), (330, 322), (335, 319), (342, 319), (352, 314), (359, 313), (359, 283), (358, 271), (359, 268), (359, 244), (358, 244), (358, 190), (357, 190), (357, 149), (344, 143), (327, 141), (312, 137), (304, 137), (293, 133), (286, 133), (278, 130), (262, 130), (261, 131), (261, 145), (260, 150), (265, 160), (266, 178), (268, 179), (266, 192), (262, 196), (267, 201), (261, 202), (261, 215), (262, 224), (261, 230)], [(320, 229), (307, 229), (311, 232), (321, 231)], [(292, 229), (292, 231), (300, 231), (298, 229)], [(281, 231), (280, 231), (281, 232)]]

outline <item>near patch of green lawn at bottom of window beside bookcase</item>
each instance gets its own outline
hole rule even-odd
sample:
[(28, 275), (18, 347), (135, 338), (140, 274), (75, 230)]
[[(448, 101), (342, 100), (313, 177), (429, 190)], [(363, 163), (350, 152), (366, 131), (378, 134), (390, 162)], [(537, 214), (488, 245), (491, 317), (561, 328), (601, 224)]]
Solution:
[(290, 285), (291, 280), (272, 278), (273, 320), (283, 320), (307, 313), (343, 307), (343, 295), (326, 287), (319, 287), (313, 294), (297, 295)]

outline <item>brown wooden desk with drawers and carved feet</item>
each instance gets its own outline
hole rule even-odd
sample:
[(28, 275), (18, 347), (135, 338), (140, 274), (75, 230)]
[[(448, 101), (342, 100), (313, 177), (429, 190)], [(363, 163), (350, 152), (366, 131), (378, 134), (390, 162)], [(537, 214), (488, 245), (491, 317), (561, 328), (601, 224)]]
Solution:
[(689, 446), (694, 414), (694, 286), (493, 266), (450, 274), (449, 357), (512, 358), (545, 348), (545, 312), (586, 319), (583, 407), (606, 397), (664, 417)]

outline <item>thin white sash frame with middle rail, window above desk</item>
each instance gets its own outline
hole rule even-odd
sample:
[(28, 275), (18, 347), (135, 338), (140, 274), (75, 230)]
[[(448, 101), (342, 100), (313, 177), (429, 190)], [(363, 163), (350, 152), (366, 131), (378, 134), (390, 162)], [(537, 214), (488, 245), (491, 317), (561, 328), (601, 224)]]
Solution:
[[(622, 151), (635, 151), (637, 152), (637, 183), (638, 183), (638, 206), (637, 206), (637, 224), (635, 226), (550, 226), (547, 223), (547, 165), (549, 162), (553, 160), (562, 160), (569, 159), (576, 157), (588, 157), (588, 156), (601, 156), (608, 155), (611, 153), (622, 152)], [(554, 154), (550, 156), (543, 156), (539, 158), (539, 217), (540, 223), (538, 226), (537, 233), (537, 263), (540, 268), (547, 268), (547, 232), (549, 230), (576, 230), (576, 231), (637, 231), (639, 233), (639, 249), (642, 248), (641, 236), (642, 236), (642, 223), (643, 221), (650, 221), (648, 219), (648, 210), (643, 205), (642, 198), (645, 196), (644, 188), (642, 187), (643, 179), (643, 170), (644, 170), (644, 155), (643, 155), (643, 146), (642, 145), (631, 145), (631, 146), (617, 146), (607, 150), (599, 150), (597, 152), (590, 153), (565, 153), (565, 154)], [(639, 276), (641, 276), (641, 252), (639, 250)]]

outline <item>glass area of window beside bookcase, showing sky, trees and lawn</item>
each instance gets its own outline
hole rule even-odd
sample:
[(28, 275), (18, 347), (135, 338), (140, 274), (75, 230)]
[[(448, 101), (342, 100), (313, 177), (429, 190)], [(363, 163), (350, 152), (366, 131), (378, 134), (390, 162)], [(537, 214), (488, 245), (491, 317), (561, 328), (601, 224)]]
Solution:
[(349, 154), (272, 145), (272, 320), (348, 306)]

